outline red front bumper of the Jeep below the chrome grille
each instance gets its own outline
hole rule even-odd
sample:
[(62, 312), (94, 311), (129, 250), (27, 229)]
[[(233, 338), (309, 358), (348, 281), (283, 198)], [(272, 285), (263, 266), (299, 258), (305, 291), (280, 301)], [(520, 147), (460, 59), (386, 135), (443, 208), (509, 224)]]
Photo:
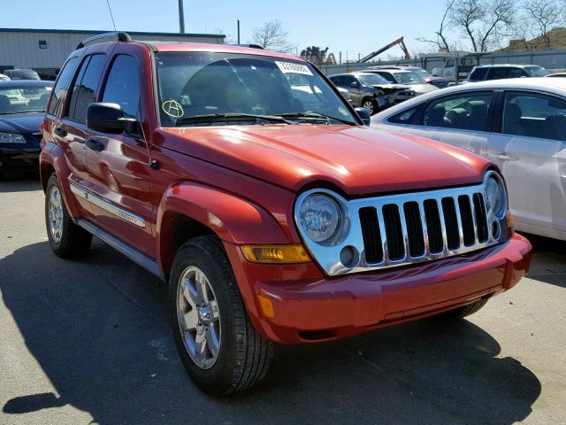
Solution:
[[(335, 278), (314, 265), (252, 265), (234, 245), (226, 251), (252, 322), (278, 343), (354, 336), (489, 298), (512, 288), (531, 263), (531, 244), (518, 235), (468, 255)], [(271, 300), (272, 318), (258, 295)]]

